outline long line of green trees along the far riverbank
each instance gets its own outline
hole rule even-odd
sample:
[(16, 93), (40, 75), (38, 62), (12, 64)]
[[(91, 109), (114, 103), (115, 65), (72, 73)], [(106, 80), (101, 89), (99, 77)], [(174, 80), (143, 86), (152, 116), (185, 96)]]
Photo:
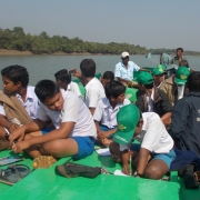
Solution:
[[(24, 33), (23, 28), (14, 27), (12, 30), (0, 28), (0, 54), (121, 54), (129, 51), (130, 54), (160, 54), (162, 52), (174, 54), (176, 49), (147, 49), (129, 43), (100, 43), (89, 42), (81, 39), (69, 39), (66, 36), (48, 36), (42, 31), (40, 34)], [(200, 56), (197, 51), (187, 51), (188, 56)]]

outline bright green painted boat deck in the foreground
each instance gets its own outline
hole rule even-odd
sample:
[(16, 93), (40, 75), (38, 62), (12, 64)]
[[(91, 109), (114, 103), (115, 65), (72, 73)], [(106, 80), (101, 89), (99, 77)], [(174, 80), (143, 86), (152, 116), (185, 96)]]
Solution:
[[(9, 156), (11, 151), (0, 152), (0, 157)], [(67, 179), (56, 173), (54, 168), (69, 161), (71, 158), (60, 159), (49, 169), (38, 169), (31, 172), (17, 184), (10, 187), (0, 183), (1, 200), (36, 200), (36, 199), (130, 199), (140, 200), (199, 200), (200, 189), (186, 190), (177, 172), (172, 172), (170, 181), (148, 180), (132, 177), (120, 177), (112, 174), (100, 174), (94, 179), (71, 178)], [(70, 160), (72, 161), (72, 160)], [(72, 161), (73, 162), (73, 161)], [(32, 160), (18, 162), (29, 166), (32, 169)], [(104, 167), (110, 172), (121, 169), (112, 158), (100, 157), (96, 151), (88, 158), (76, 161), (91, 167)], [(6, 166), (7, 167), (7, 166)], [(1, 168), (6, 168), (1, 167)]]

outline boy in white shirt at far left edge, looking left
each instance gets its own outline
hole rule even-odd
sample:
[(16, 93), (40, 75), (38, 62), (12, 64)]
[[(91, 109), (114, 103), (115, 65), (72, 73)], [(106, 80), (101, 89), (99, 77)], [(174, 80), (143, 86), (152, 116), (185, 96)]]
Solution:
[[(34, 87), (28, 86), (29, 73), (27, 69), (21, 66), (9, 66), (1, 70), (1, 76), (2, 76), (2, 82), (3, 82), (2, 86), (4, 88), (4, 93), (8, 96), (8, 98), (16, 96), (21, 102), (22, 107), (26, 109), (24, 112), (27, 111), (28, 116), (30, 117), (29, 121), (31, 121), (31, 119), (34, 120), (37, 118), (40, 101), (38, 100), (34, 93)], [(20, 111), (23, 112), (22, 110), (19, 110), (19, 112)], [(3, 140), (6, 139), (7, 131), (11, 133), (16, 129), (18, 129), (20, 124), (24, 123), (24, 121), (22, 122), (18, 118), (20, 113), (18, 113), (18, 117), (12, 120), (8, 119), (7, 114), (8, 113), (6, 113), (3, 101), (1, 101), (0, 102), (0, 126), (1, 126), (0, 138)], [(7, 131), (4, 128), (7, 129)], [(7, 147), (9, 147), (8, 140), (4, 140), (3, 142), (7, 142), (8, 143)]]

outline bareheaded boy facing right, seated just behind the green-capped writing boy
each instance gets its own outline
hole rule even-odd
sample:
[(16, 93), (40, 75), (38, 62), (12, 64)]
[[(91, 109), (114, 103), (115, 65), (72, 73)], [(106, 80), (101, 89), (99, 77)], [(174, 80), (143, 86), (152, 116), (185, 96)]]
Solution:
[(106, 98), (98, 101), (93, 119), (97, 127), (98, 140), (109, 146), (112, 142), (113, 133), (117, 130), (117, 113), (126, 106), (130, 104), (130, 101), (126, 99), (126, 87), (119, 81), (111, 81), (107, 83)]

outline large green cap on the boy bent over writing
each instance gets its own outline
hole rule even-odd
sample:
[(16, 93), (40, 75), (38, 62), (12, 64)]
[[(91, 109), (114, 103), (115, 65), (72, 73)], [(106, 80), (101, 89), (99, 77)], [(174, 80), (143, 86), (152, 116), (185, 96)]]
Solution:
[(114, 133), (113, 140), (120, 144), (129, 143), (139, 120), (140, 111), (137, 106), (131, 103), (122, 107), (117, 114), (118, 130)]

